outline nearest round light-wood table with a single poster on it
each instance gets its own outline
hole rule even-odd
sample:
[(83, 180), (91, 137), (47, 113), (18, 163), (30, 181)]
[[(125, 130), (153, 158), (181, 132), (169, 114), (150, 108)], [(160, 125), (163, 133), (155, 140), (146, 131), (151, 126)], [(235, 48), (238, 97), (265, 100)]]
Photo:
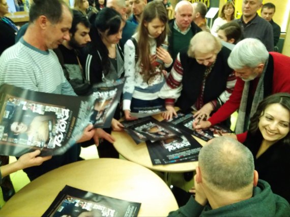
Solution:
[(178, 204), (151, 170), (120, 159), (79, 161), (52, 170), (17, 192), (0, 216), (41, 216), (65, 187), (141, 203), (138, 216), (167, 216)]

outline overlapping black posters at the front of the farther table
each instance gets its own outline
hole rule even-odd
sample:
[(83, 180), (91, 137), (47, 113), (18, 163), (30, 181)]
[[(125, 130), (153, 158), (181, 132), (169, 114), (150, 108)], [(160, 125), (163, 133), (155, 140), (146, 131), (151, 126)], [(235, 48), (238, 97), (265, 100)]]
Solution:
[(153, 117), (122, 123), (136, 144), (146, 142), (153, 165), (197, 161), (201, 145), (175, 126)]

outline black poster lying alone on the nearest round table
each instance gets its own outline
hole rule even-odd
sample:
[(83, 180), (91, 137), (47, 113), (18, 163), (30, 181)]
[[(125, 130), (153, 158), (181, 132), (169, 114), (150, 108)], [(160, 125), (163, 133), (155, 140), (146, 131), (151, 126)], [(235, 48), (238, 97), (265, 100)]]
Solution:
[(137, 216), (141, 203), (82, 191), (66, 185), (43, 217), (61, 216)]

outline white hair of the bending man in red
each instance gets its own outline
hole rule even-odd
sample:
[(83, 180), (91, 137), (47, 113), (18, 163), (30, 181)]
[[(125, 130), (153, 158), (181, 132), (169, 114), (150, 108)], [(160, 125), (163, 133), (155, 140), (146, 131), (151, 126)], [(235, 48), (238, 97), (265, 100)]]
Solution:
[(244, 67), (255, 68), (261, 63), (265, 64), (268, 58), (269, 52), (261, 41), (247, 38), (234, 47), (227, 63), (234, 70)]

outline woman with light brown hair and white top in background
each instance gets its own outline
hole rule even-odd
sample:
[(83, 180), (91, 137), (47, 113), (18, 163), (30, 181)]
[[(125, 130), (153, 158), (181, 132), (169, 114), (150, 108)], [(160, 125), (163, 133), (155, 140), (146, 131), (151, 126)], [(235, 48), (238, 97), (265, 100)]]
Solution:
[(214, 24), (211, 29), (211, 33), (214, 36), (217, 36), (218, 28), (235, 19), (235, 6), (232, 2), (227, 2), (224, 6), (222, 6), (220, 15), (215, 19)]

